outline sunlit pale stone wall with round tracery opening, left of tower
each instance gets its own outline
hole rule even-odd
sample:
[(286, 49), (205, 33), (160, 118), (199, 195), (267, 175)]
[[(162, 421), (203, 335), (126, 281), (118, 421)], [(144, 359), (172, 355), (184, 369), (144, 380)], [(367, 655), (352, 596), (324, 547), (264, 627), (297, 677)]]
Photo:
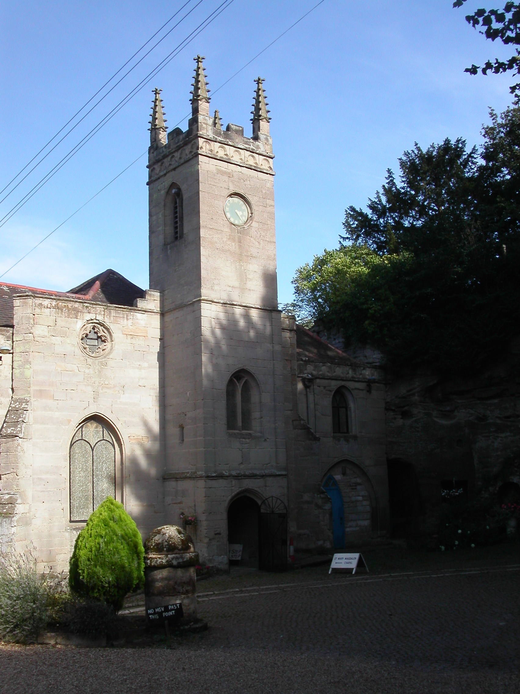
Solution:
[[(119, 448), (119, 500), (147, 534), (163, 520), (159, 440), (159, 304), (128, 308), (25, 294), (15, 298), (13, 396), (0, 432), (1, 494), (19, 548), (41, 565), (68, 568), (84, 523), (69, 521), (69, 445), (78, 425), (101, 418)], [(78, 332), (101, 321), (107, 355), (85, 354)], [(14, 511), (14, 514), (12, 513)], [(4, 520), (6, 516), (4, 515)], [(6, 521), (7, 523), (7, 521)]]

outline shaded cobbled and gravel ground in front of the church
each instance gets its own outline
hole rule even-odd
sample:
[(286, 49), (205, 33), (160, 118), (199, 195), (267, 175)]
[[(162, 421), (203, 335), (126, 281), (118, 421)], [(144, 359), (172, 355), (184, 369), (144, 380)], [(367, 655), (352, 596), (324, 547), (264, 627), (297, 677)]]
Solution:
[(3, 646), (0, 692), (517, 694), (519, 588), (518, 563), (203, 582), (208, 632), (169, 648)]

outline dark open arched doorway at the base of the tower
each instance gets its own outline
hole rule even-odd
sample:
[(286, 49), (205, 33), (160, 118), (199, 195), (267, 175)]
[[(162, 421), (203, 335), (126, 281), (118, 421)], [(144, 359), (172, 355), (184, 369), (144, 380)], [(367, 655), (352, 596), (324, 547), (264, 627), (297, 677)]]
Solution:
[(242, 545), (241, 566), (259, 568), (259, 513), (258, 503), (250, 496), (239, 496), (227, 509), (227, 542)]

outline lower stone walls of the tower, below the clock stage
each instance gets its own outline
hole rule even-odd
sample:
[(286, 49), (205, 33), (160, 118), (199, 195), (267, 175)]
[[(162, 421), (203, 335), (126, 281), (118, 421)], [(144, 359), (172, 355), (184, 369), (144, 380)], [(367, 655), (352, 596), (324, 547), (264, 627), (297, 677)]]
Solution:
[[(179, 321), (185, 327), (179, 316), (186, 311), (166, 315), (165, 325)], [(190, 311), (201, 326), (193, 330), (193, 342), (185, 344), (188, 330), (165, 330), (166, 354), (172, 355), (165, 372), (166, 516), (173, 523), (179, 522), (181, 511), (195, 514), (201, 558), (226, 566), (232, 499), (247, 491), (259, 502), (266, 496), (287, 501), (280, 314), (209, 301), (191, 304)], [(261, 392), (259, 429), (252, 433), (227, 431), (226, 385), (237, 369), (252, 373)]]

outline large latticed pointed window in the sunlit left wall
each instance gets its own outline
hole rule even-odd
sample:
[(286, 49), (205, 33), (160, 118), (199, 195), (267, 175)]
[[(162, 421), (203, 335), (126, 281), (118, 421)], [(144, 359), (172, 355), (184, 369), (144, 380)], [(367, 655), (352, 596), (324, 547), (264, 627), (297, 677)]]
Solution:
[(101, 423), (89, 419), (69, 452), (71, 521), (87, 521), (107, 496), (116, 497), (116, 447)]

